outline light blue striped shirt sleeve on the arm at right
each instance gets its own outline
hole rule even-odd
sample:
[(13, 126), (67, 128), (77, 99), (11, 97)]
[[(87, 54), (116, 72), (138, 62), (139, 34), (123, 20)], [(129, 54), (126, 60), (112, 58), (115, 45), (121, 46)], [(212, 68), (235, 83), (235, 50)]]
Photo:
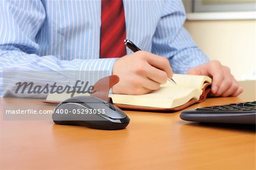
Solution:
[(183, 27), (184, 22), (182, 2), (166, 1), (153, 37), (152, 52), (167, 57), (174, 73), (187, 73), (189, 68), (209, 61)]

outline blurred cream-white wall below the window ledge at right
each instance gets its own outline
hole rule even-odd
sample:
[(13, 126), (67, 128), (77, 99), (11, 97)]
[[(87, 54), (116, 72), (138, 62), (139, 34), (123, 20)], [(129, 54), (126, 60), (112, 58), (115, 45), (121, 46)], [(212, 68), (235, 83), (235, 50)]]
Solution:
[(230, 67), (237, 80), (255, 79), (255, 20), (187, 20), (184, 26), (205, 54)]

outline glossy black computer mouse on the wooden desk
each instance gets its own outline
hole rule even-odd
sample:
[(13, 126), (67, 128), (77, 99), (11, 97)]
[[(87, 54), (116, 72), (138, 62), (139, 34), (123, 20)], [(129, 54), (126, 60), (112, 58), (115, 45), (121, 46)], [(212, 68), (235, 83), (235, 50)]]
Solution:
[(79, 125), (102, 130), (125, 128), (130, 118), (117, 106), (93, 96), (68, 98), (55, 108), (53, 122), (59, 125)]

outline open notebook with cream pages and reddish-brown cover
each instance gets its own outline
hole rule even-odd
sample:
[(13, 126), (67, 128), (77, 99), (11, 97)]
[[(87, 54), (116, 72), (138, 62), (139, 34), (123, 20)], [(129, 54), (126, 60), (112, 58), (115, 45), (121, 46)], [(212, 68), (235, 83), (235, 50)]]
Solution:
[[(166, 82), (160, 89), (143, 95), (109, 94), (113, 103), (121, 108), (139, 110), (181, 110), (204, 101), (210, 91), (212, 79), (208, 76), (174, 74), (177, 85)], [(61, 102), (71, 94), (49, 94), (45, 102)], [(89, 94), (75, 94), (75, 96)]]

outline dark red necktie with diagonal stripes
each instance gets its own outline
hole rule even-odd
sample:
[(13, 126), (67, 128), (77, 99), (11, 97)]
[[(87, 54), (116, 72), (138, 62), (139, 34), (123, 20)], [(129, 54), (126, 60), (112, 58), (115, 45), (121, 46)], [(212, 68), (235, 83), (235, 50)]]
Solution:
[(126, 55), (125, 11), (122, 0), (101, 0), (101, 58)]

